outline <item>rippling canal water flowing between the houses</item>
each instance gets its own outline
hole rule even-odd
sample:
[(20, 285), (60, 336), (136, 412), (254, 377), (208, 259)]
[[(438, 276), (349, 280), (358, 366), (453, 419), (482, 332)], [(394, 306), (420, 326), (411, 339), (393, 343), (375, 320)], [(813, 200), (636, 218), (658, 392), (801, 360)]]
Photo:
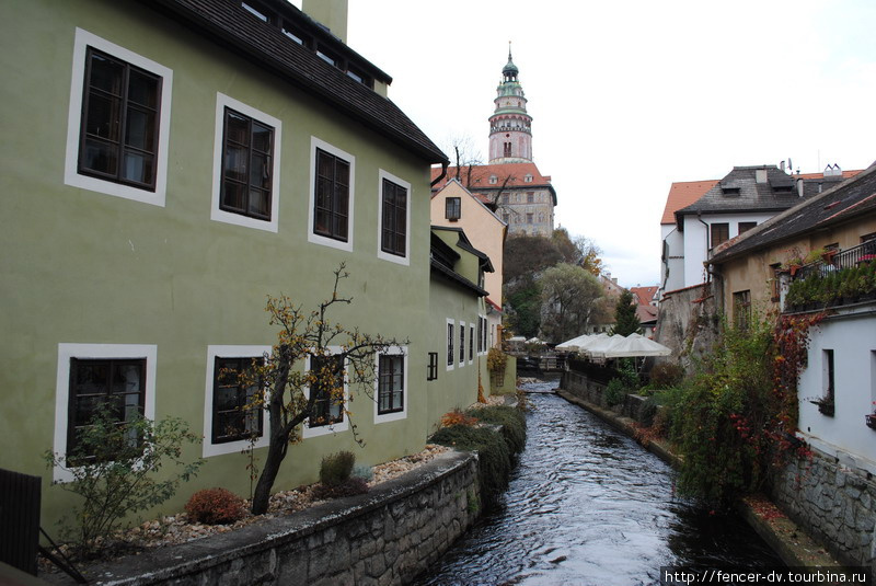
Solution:
[(781, 566), (735, 515), (675, 494), (672, 470), (631, 438), (530, 383), (527, 448), (503, 506), (463, 536), (417, 586), (633, 586), (660, 566)]

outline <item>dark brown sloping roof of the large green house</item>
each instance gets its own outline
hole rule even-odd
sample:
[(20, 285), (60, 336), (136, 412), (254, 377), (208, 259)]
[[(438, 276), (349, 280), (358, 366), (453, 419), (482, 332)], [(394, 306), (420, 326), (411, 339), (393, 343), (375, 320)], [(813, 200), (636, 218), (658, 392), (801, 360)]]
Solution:
[[(425, 161), (448, 162), (441, 149), (392, 101), (326, 64), (312, 50), (287, 37), (278, 26), (250, 14), (241, 7), (240, 0), (140, 1), (204, 35), (218, 46), (242, 55)], [(263, 3), (290, 18), (307, 19), (288, 2), (263, 0)], [(356, 55), (339, 41), (335, 39), (335, 43), (346, 55)], [(380, 71), (361, 58), (358, 61), (371, 71)], [(389, 81), (389, 76), (383, 74), (381, 79)]]

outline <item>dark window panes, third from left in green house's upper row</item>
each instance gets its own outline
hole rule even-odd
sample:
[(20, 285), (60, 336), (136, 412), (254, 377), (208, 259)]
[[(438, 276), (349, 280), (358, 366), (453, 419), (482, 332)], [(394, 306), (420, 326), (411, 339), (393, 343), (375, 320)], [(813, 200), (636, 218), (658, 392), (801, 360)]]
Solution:
[(349, 222), (349, 162), (316, 149), (316, 205), (313, 231), (347, 241)]

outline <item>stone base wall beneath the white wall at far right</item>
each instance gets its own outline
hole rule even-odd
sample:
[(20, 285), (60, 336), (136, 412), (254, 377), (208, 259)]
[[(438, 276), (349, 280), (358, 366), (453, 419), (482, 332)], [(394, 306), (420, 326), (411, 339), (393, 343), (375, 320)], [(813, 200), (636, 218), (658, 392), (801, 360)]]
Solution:
[(772, 479), (773, 501), (840, 561), (876, 576), (876, 480), (815, 451)]

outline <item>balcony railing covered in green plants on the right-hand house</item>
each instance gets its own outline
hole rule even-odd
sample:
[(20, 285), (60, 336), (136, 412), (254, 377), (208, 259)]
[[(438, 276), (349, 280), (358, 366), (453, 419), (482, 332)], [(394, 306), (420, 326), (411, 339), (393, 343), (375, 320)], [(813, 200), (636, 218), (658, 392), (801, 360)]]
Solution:
[(793, 272), (784, 311), (814, 311), (876, 299), (876, 241), (822, 258)]

